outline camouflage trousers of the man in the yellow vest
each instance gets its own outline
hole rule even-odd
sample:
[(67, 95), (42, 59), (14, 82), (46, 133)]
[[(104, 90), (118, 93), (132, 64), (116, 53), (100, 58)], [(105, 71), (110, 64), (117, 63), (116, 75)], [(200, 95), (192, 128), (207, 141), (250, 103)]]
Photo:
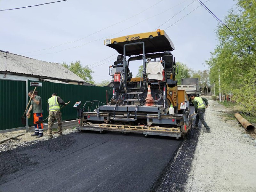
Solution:
[(54, 121), (58, 122), (58, 134), (62, 133), (62, 123), (61, 123), (61, 112), (58, 111), (49, 111), (49, 117), (48, 117), (48, 130), (47, 135), (52, 136), (52, 126)]

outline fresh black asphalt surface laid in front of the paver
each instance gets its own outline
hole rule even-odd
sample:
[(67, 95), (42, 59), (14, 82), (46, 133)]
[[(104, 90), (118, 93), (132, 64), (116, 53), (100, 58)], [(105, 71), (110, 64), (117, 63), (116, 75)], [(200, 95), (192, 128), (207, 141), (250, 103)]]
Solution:
[(197, 136), (88, 131), (16, 148), (0, 153), (0, 192), (183, 191)]

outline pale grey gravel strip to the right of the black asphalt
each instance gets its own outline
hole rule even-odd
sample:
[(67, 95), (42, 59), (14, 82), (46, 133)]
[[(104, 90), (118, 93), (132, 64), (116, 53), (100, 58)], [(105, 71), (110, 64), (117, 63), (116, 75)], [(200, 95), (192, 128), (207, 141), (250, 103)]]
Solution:
[[(256, 191), (256, 140), (245, 134), (231, 110), (209, 100), (205, 121), (211, 133), (198, 130), (199, 137), (185, 185), (192, 191)], [(223, 113), (224, 112), (224, 113)]]

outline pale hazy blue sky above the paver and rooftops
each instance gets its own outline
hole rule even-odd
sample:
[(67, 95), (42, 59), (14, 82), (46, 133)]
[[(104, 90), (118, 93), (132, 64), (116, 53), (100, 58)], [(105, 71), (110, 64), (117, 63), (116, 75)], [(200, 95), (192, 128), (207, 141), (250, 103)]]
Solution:
[[(49, 2), (53, 0), (0, 0), (0, 10)], [(236, 3), (202, 2), (222, 21)], [(0, 50), (55, 63), (80, 61), (92, 68), (94, 81), (100, 83), (111, 79), (108, 67), (118, 55), (104, 45), (104, 39), (160, 28), (175, 46), (176, 61), (204, 70), (208, 69), (205, 60), (218, 44), (214, 32), (218, 21), (199, 5), (197, 0), (68, 0), (1, 11)], [(130, 63), (133, 76), (139, 65), (142, 61)]]

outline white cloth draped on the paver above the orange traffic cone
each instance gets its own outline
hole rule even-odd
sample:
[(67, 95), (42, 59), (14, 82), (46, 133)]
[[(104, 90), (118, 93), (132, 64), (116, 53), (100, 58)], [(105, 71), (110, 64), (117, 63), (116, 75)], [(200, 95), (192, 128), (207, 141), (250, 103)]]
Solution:
[(163, 75), (162, 72), (164, 70), (164, 67), (161, 62), (149, 62), (147, 65), (147, 76), (148, 79), (157, 79), (162, 81)]

